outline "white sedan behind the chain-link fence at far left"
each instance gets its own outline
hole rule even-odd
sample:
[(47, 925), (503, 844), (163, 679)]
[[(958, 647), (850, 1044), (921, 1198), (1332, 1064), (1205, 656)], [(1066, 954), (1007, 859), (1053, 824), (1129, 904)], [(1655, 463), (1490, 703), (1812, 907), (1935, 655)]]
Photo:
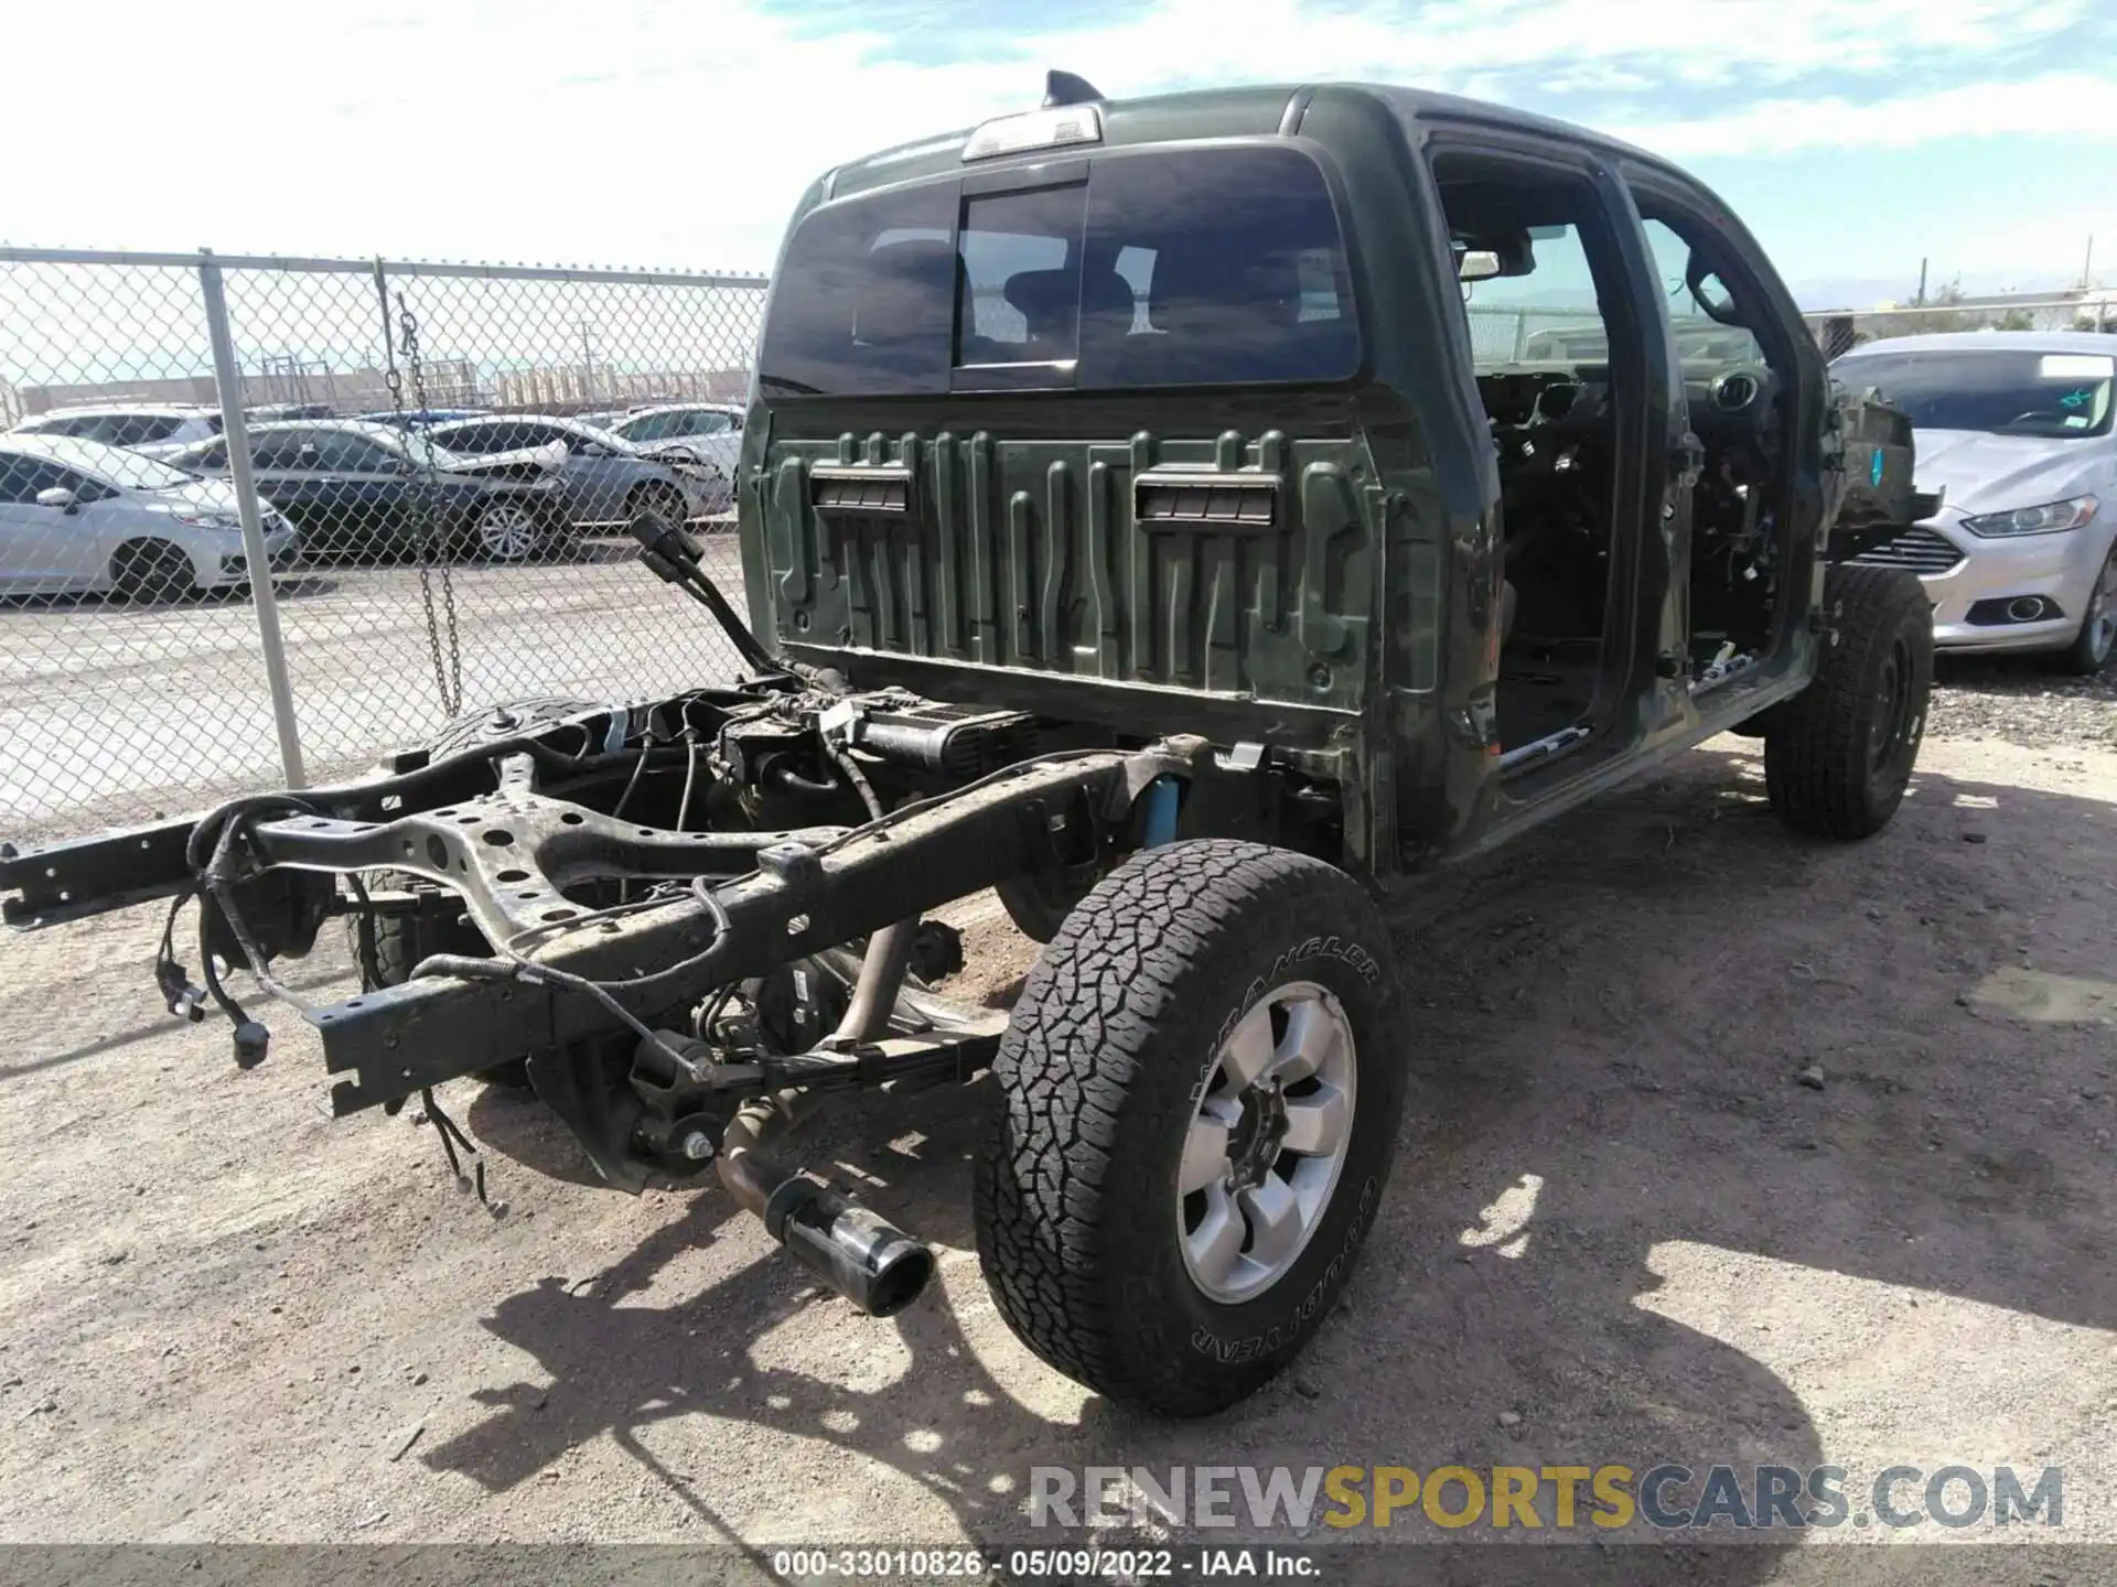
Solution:
[[(265, 514), (273, 567), (298, 552)], [(0, 436), (0, 595), (174, 601), (250, 582), (235, 491), (99, 440)]]

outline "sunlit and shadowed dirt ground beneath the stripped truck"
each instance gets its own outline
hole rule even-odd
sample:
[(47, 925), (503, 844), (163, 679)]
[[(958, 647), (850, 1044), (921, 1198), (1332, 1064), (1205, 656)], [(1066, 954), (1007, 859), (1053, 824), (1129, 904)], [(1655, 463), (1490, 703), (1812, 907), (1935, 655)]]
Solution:
[(2058, 1464), (2060, 1536), (2117, 1540), (2117, 751), (1933, 738), (1835, 849), (1723, 738), (1391, 918), (1416, 1090), (1351, 1301), (1200, 1424), (995, 1314), (982, 1086), (809, 1134), (942, 1248), (876, 1322), (718, 1189), (597, 1189), (462, 1083), (481, 1210), (415, 1109), (322, 1115), (294, 1018), (254, 1073), (171, 1024), (150, 912), (8, 940), (0, 1538), (938, 1543), (1020, 1536), (1033, 1464), (1829, 1460)]

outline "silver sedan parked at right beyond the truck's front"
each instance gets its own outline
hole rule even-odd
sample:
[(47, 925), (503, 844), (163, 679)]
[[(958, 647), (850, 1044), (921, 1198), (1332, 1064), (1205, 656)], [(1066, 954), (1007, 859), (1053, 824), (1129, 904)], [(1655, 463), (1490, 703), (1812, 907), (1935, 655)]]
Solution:
[(1918, 573), (1933, 643), (2102, 671), (2117, 647), (2117, 339), (1899, 336), (1831, 370), (1912, 417), (1918, 489), (1941, 493), (1937, 514), (1859, 557)]

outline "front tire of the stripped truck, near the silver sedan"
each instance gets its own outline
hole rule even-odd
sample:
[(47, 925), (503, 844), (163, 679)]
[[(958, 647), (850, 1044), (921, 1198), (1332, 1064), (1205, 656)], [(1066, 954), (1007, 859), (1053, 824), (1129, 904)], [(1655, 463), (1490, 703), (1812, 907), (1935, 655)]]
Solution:
[(1763, 783), (1812, 838), (1869, 838), (1912, 783), (1933, 694), (1933, 605), (1895, 567), (1831, 567), (1814, 681), (1770, 711)]

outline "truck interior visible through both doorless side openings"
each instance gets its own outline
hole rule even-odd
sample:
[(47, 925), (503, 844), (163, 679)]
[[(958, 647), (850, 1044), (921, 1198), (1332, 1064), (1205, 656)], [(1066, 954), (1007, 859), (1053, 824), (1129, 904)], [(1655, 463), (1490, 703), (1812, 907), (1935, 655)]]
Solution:
[[(1501, 480), (1499, 732), (1505, 753), (1584, 730), (1609, 673), (1622, 554), (1620, 415), (1639, 360), (1607, 305), (1622, 262), (1581, 176), (1488, 154), (1435, 161), (1478, 396)], [(1689, 686), (1736, 677), (1768, 647), (1785, 554), (1789, 370), (1751, 330), (1761, 305), (1723, 279), (1713, 231), (1641, 195), (1645, 239), (1698, 442), (1689, 537)], [(1639, 332), (1630, 332), (1634, 339)], [(1613, 347), (1617, 355), (1613, 358)], [(1645, 501), (1658, 497), (1651, 485)], [(1609, 662), (1609, 667), (1605, 664)]]

